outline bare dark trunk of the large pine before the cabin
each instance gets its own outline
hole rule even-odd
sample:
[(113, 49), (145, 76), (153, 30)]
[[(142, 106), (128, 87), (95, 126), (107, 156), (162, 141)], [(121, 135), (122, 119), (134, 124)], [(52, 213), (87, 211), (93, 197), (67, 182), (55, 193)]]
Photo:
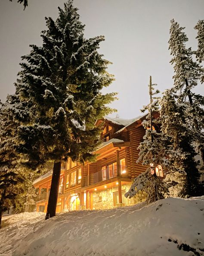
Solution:
[(50, 192), (49, 192), (47, 212), (46, 212), (46, 217), (45, 217), (46, 220), (54, 217), (56, 214), (60, 171), (61, 171), (61, 162), (55, 161), (54, 166), (53, 166), (53, 176), (52, 176), (52, 182), (51, 182), (51, 187), (50, 187)]

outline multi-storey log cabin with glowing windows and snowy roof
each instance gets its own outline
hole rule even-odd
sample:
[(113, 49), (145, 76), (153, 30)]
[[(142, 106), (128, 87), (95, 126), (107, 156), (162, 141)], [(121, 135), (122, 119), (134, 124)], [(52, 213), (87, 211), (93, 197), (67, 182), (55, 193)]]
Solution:
[[(158, 113), (155, 113), (157, 118)], [(103, 141), (94, 152), (93, 163), (76, 163), (68, 159), (61, 169), (60, 186), (56, 212), (83, 209), (110, 209), (133, 205), (145, 200), (138, 193), (125, 198), (133, 179), (144, 172), (147, 166), (136, 163), (139, 143), (145, 129), (142, 121), (146, 115), (133, 119), (104, 117), (96, 121), (103, 124), (100, 140)], [(38, 189), (37, 211), (46, 212), (52, 171), (34, 181)]]

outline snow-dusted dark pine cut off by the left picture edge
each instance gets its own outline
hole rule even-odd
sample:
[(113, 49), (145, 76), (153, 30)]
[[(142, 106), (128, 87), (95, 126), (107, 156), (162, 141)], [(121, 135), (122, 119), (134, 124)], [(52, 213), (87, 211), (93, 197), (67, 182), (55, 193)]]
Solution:
[(16, 205), (17, 197), (24, 192), (23, 182), (26, 172), (25, 161), (16, 150), (16, 131), (19, 122), (25, 118), (19, 107), (19, 99), (15, 95), (7, 97), (6, 103), (0, 107), (0, 223), (3, 211)]

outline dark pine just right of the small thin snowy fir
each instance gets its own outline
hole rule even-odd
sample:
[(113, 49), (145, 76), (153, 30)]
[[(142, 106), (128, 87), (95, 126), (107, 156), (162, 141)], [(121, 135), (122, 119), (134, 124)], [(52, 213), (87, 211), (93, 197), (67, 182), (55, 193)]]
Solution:
[(186, 118), (186, 104), (175, 100), (172, 90), (166, 90), (161, 99), (161, 131), (171, 138), (173, 150), (180, 157), (171, 159), (171, 172), (166, 180), (176, 196), (198, 195), (199, 172), (195, 162), (191, 126)]

